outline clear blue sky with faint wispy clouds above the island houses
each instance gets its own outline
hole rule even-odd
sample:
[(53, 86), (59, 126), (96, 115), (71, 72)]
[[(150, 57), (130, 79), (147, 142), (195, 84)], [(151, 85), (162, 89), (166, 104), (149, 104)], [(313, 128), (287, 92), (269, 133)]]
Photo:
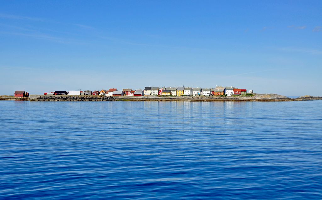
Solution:
[(1, 95), (182, 83), (322, 95), (322, 1), (0, 5)]

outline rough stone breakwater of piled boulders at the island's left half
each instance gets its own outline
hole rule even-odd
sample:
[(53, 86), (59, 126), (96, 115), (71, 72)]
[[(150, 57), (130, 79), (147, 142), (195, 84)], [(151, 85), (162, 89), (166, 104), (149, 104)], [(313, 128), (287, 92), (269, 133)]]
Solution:
[(115, 99), (110, 96), (39, 95), (32, 96), (30, 101), (115, 101)]

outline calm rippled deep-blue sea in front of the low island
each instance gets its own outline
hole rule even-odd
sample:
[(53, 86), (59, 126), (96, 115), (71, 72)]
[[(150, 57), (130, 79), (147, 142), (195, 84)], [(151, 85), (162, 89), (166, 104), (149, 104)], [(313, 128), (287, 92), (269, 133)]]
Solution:
[(322, 101), (1, 101), (0, 199), (322, 199)]

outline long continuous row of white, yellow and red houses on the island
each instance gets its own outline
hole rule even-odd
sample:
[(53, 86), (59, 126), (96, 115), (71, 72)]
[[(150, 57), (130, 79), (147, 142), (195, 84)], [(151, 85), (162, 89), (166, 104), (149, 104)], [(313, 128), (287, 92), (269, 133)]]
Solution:
[[(253, 91), (250, 90), (249, 93)], [(123, 89), (119, 91), (117, 88), (110, 88), (109, 90), (85, 90), (85, 91), (54, 91), (44, 93), (44, 95), (100, 95), (100, 96), (232, 96), (232, 95), (246, 95), (246, 89), (239, 89), (236, 87), (222, 87), (215, 88), (201, 88), (201, 87), (145, 87), (142, 89)]]

